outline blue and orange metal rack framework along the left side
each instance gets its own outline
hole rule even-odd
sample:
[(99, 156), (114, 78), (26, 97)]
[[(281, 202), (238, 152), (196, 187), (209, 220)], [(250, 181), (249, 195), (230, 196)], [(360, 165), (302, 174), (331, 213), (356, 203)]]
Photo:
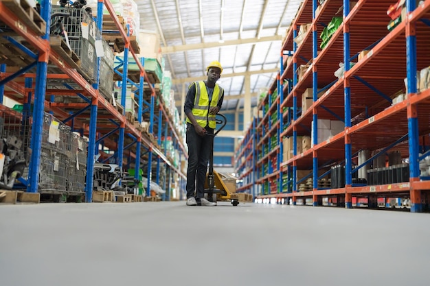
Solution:
[[(14, 4), (20, 10), (19, 1), (9, 1), (14, 2)], [(8, 3), (9, 4), (9, 3)], [(135, 51), (133, 50), (133, 46), (131, 46), (130, 38), (126, 34), (124, 27), (120, 25), (117, 16), (115, 15), (115, 11), (113, 10), (113, 6), (109, 1), (99, 1), (98, 2), (98, 14), (102, 15), (103, 5), (106, 6), (106, 9), (109, 11), (110, 16), (112, 17), (115, 25), (117, 26), (118, 31), (120, 32), (123, 40), (124, 40), (124, 62), (123, 62), (123, 71), (122, 82), (122, 99), (125, 99), (125, 87), (126, 83), (129, 82), (127, 77), (127, 64), (128, 64), (128, 53), (131, 52), (133, 58), (135, 58), (137, 66), (140, 70), (140, 76), (138, 83), (139, 86), (139, 112), (138, 118), (139, 122), (142, 120), (142, 100), (143, 100), (143, 91), (144, 91), (144, 80), (148, 81), (148, 76), (146, 75), (146, 71), (142, 65), (141, 59), (137, 58)], [(21, 9), (22, 10), (22, 9)], [(37, 14), (35, 12), (35, 14)], [(177, 172), (181, 176), (181, 178), (185, 178), (185, 176), (181, 173), (181, 171), (172, 165), (170, 160), (166, 157), (161, 150), (159, 150), (160, 136), (158, 136), (158, 144), (152, 142), (147, 136), (142, 136), (142, 133), (139, 132), (133, 126), (133, 123), (126, 120), (124, 116), (124, 110), (122, 112), (118, 111), (117, 108), (112, 106), (112, 104), (106, 100), (101, 94), (98, 92), (98, 84), (89, 84), (82, 75), (80, 75), (75, 69), (72, 68), (70, 62), (67, 62), (65, 58), (62, 58), (57, 51), (54, 51), (49, 46), (49, 24), (50, 24), (50, 14), (51, 14), (51, 3), (49, 1), (43, 1), (41, 5), (41, 19), (45, 21), (40, 21), (36, 16), (32, 13), (28, 15), (20, 15), (16, 13), (12, 13), (3, 1), (0, 1), (0, 20), (8, 25), (8, 27), (12, 28), (16, 34), (23, 37), (29, 45), (36, 49), (36, 52), (30, 51), (20, 43), (14, 43), (13, 38), (10, 40), (14, 45), (17, 45), (19, 49), (23, 49), (25, 53), (29, 54), (34, 60), (34, 63), (27, 65), (27, 67), (21, 67), (19, 71), (16, 73), (5, 73), (5, 64), (1, 64), (1, 102), (3, 102), (3, 93), (7, 93), (8, 96), (16, 99), (18, 101), (31, 102), (32, 93), (34, 92), (34, 113), (32, 118), (33, 128), (32, 128), (32, 158), (30, 160), (29, 166), (29, 177), (27, 182), (27, 191), (37, 192), (38, 191), (38, 167), (41, 153), (41, 128), (42, 128), (42, 120), (43, 120), (43, 110), (50, 110), (58, 119), (63, 120), (64, 122), (69, 123), (73, 130), (79, 130), (82, 135), (89, 136), (89, 145), (88, 145), (88, 160), (87, 160), (87, 184), (85, 187), (86, 200), (87, 202), (91, 202), (92, 197), (92, 189), (93, 189), (93, 164), (95, 152), (98, 152), (98, 144), (103, 143), (106, 144), (107, 147), (112, 149), (117, 149), (117, 162), (120, 166), (123, 163), (123, 154), (124, 150), (131, 147), (135, 144), (135, 152), (129, 152), (129, 156), (135, 158), (135, 169), (139, 169), (140, 167), (140, 158), (141, 158), (141, 149), (142, 147), (146, 147), (148, 150), (148, 166), (151, 166), (152, 162), (152, 154), (157, 156), (157, 168), (161, 162), (166, 163), (169, 169), (172, 169), (174, 172)], [(36, 22), (37, 19), (37, 22)], [(35, 25), (36, 23), (36, 25)], [(97, 26), (99, 29), (102, 27), (102, 17), (98, 17), (96, 19)], [(35, 27), (36, 26), (36, 27)], [(131, 48), (131, 49), (130, 49)], [(60, 73), (52, 74), (48, 73), (48, 61), (50, 61), (56, 69), (60, 71)], [(72, 62), (73, 64), (73, 62)], [(100, 64), (100, 58), (98, 60), (98, 65)], [(36, 67), (36, 73), (28, 73), (28, 71), (32, 70)], [(22, 84), (15, 82), (16, 78), (23, 76), (26, 78), (26, 85), (22, 86)], [(69, 94), (69, 95), (78, 95), (82, 99), (84, 99), (84, 104), (61, 104), (56, 103), (53, 100), (45, 100), (45, 89), (47, 84), (47, 79), (57, 79), (57, 80), (73, 80), (73, 83), (78, 86), (78, 88), (71, 89), (70, 91), (62, 89), (61, 91), (46, 91), (47, 94), (56, 95), (56, 94)], [(30, 80), (30, 84), (29, 81)], [(32, 88), (32, 80), (35, 81), (34, 89)], [(98, 82), (98, 79), (97, 81)], [(8, 92), (5, 92), (4, 86), (8, 87)], [(69, 86), (69, 88), (71, 88)], [(155, 88), (152, 84), (148, 84), (148, 88), (150, 88), (151, 92), (151, 102), (150, 107), (147, 108), (150, 112), (150, 132), (152, 134), (152, 126), (157, 124), (159, 126), (159, 133), (161, 132), (161, 127), (163, 126), (163, 122), (166, 122), (166, 130), (170, 127), (170, 134), (173, 138), (176, 139), (177, 147), (183, 155), (186, 157), (185, 148), (183, 147), (183, 143), (180, 139), (179, 134), (172, 125), (171, 119), (166, 112), (166, 109), (163, 107), (163, 102), (160, 97), (159, 99), (159, 115), (154, 120), (154, 106), (155, 106)], [(50, 97), (52, 99), (52, 96)], [(30, 104), (27, 104), (30, 106)], [(122, 106), (124, 106), (124, 102), (122, 102)], [(67, 111), (66, 111), (67, 110)], [(88, 111), (89, 110), (89, 114)], [(89, 123), (83, 121), (85, 116), (89, 117)], [(80, 118), (78, 118), (80, 117)], [(111, 124), (98, 124), (100, 119), (109, 119)], [(157, 122), (158, 120), (158, 122)], [(111, 138), (115, 132), (119, 132), (117, 136), (117, 142), (113, 141)], [(167, 132), (167, 131), (166, 131)], [(104, 133), (104, 134), (102, 134)], [(96, 139), (96, 134), (100, 134), (99, 138)], [(126, 147), (124, 147), (124, 138), (125, 134), (132, 139), (132, 143), (129, 143)], [(127, 138), (128, 138), (127, 137)], [(143, 145), (143, 146), (142, 146)], [(152, 178), (151, 176), (152, 168), (148, 167), (148, 178)], [(170, 174), (170, 172), (169, 172)], [(135, 172), (135, 177), (138, 178), (139, 172)], [(159, 176), (156, 176), (157, 183), (159, 182)], [(149, 195), (149, 182), (147, 186), (147, 194)]]

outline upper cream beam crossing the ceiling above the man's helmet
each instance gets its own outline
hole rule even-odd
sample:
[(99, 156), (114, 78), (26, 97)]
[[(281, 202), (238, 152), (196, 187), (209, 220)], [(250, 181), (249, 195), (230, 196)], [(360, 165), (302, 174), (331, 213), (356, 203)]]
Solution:
[(161, 53), (177, 53), (178, 51), (192, 51), (194, 49), (210, 49), (214, 47), (235, 46), (244, 44), (256, 44), (261, 42), (273, 42), (274, 40), (282, 40), (282, 35), (266, 36), (261, 38), (239, 38), (237, 40), (226, 40), (224, 43), (198, 43), (179, 46), (161, 47)]

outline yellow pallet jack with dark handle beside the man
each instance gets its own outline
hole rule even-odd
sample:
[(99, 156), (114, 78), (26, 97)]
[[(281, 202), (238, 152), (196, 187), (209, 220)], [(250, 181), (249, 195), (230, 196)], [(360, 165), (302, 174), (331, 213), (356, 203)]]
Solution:
[[(227, 124), (227, 118), (218, 113), (221, 119), (216, 118), (216, 124), (222, 124), (214, 134), (206, 134), (205, 136), (216, 136)], [(216, 188), (215, 188), (216, 187)], [(231, 202), (234, 206), (239, 204), (239, 200), (237, 198), (232, 198), (231, 191), (229, 191), (228, 187), (224, 184), (220, 174), (217, 171), (214, 171), (214, 140), (212, 140), (212, 148), (210, 152), (209, 158), (209, 171), (207, 173), (206, 181), (205, 181), (205, 190), (204, 196), (207, 200), (211, 202)]]

